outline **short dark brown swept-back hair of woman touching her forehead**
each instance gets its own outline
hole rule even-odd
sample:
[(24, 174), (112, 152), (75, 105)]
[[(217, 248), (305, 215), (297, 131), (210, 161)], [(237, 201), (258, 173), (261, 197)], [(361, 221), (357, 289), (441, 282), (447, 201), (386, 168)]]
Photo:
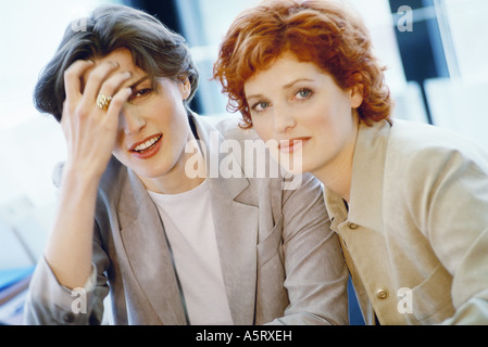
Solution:
[(183, 36), (154, 16), (126, 5), (101, 5), (84, 20), (82, 30), (67, 25), (58, 51), (42, 69), (34, 91), (38, 111), (61, 121), (66, 98), (64, 72), (77, 60), (96, 60), (118, 49), (130, 52), (134, 63), (149, 74), (153, 86), (157, 77), (175, 80), (188, 77), (191, 92), (185, 105), (189, 107), (199, 85), (199, 73)]

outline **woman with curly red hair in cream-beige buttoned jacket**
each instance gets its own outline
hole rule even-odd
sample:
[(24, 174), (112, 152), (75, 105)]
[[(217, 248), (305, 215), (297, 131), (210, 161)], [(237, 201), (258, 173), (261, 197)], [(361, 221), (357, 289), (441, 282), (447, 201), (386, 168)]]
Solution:
[(366, 323), (488, 323), (488, 155), (391, 119), (352, 9), (265, 1), (235, 20), (214, 77), (278, 160), (324, 183)]

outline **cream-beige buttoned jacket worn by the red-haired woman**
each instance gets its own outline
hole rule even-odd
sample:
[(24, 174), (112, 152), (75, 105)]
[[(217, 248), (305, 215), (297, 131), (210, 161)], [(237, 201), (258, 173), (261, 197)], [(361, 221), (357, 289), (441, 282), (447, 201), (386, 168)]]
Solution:
[(349, 211), (325, 191), (366, 323), (488, 323), (488, 154), (427, 125), (360, 126)]

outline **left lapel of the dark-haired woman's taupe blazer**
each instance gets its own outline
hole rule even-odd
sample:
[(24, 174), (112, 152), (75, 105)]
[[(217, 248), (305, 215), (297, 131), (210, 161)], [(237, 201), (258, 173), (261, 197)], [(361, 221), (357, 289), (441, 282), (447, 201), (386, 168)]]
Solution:
[(140, 290), (163, 324), (186, 324), (163, 224), (151, 197), (130, 169), (118, 209), (123, 246)]

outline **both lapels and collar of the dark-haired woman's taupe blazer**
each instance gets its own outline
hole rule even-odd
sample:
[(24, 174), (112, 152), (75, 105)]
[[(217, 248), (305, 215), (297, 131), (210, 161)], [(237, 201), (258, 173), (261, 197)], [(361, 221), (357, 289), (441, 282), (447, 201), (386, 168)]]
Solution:
[[(218, 130), (195, 115), (190, 115), (190, 121), (193, 121), (204, 146), (207, 165), (220, 165), (224, 158), (240, 163), (240, 158), (229, 157), (232, 153), (220, 153), (225, 139)], [(242, 170), (240, 166), (239, 170)], [(158, 208), (135, 172), (127, 171), (128, 179), (122, 185), (118, 210), (121, 235), (134, 277), (163, 323), (185, 324), (182, 301), (175, 299), (180, 294)], [(243, 172), (238, 178), (217, 175), (208, 179), (221, 267), (234, 323), (252, 324), (256, 277), (256, 196), (247, 192), (250, 182)]]

